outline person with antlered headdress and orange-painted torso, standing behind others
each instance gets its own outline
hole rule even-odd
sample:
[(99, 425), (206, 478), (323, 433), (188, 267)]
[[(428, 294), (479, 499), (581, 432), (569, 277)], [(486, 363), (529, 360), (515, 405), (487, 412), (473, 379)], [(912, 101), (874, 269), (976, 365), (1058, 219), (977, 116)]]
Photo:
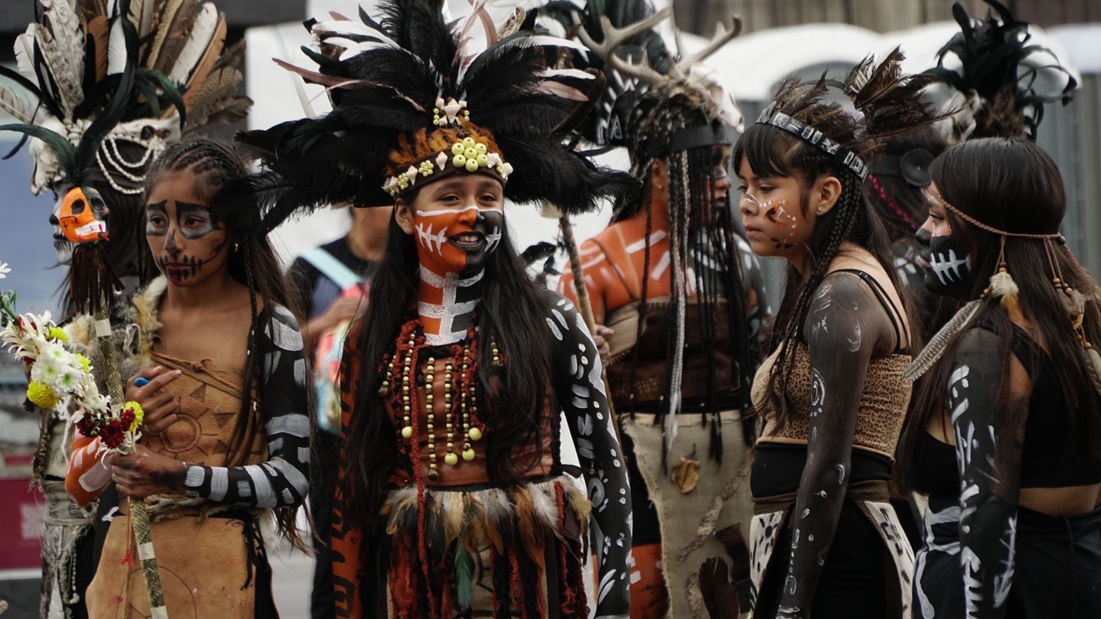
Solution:
[(656, 30), (667, 13), (636, 0), (588, 6), (579, 35), (609, 88), (585, 138), (626, 146), (643, 191), (581, 245), (584, 274), (567, 267), (558, 285), (576, 298), (584, 281), (596, 323), (610, 327), (634, 502), (631, 616), (731, 617), (752, 517), (742, 411), (768, 304), (728, 199), (741, 112), (702, 66), (738, 24), (704, 53), (674, 56)]

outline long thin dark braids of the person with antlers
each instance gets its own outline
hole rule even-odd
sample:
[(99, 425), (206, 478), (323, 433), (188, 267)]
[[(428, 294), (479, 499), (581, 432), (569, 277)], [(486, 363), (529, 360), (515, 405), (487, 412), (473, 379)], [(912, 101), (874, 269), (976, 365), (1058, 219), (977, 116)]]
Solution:
[[(666, 324), (672, 326), (672, 333), (666, 341), (666, 393), (665, 401), (672, 401), (674, 390), (682, 382), (684, 368), (685, 340), (693, 338), (701, 344), (707, 359), (705, 377), (705, 397), (698, 402), (699, 413), (705, 426), (709, 427), (710, 441), (708, 454), (716, 461), (722, 461), (722, 436), (719, 417), (720, 390), (732, 387), (735, 398), (748, 401), (750, 380), (750, 330), (745, 319), (744, 285), (742, 282), (741, 261), (738, 259), (737, 234), (733, 224), (733, 211), (729, 195), (724, 202), (715, 199), (711, 188), (711, 171), (715, 169), (715, 145), (690, 148), (674, 151), (671, 148), (671, 137), (677, 131), (691, 127), (715, 128), (705, 111), (705, 106), (690, 91), (672, 97), (643, 96), (631, 112), (628, 135), (631, 142), (629, 151), (632, 154), (631, 173), (643, 181), (639, 199), (625, 204), (612, 218), (620, 221), (639, 214), (646, 213), (646, 231), (644, 237), (643, 270), (648, 274), (652, 264), (651, 235), (653, 232), (653, 170), (657, 161), (663, 161), (668, 167), (669, 184), (669, 258), (673, 285), (671, 286), (671, 303), (666, 310)], [(696, 292), (696, 305), (699, 310), (698, 321), (687, 324), (685, 310), (688, 302), (687, 285), (680, 285), (684, 275), (689, 272)], [(642, 344), (642, 333), (646, 316), (651, 310), (648, 298), (650, 278), (643, 276), (641, 298), (639, 301), (639, 322), (635, 333), (635, 344), (632, 349), (630, 383), (636, 379), (639, 351)], [(726, 303), (724, 319), (731, 334), (727, 355), (732, 360), (733, 384), (720, 384), (717, 376), (715, 357), (719, 346), (717, 321), (720, 317), (720, 303)], [(634, 415), (635, 402), (631, 401), (630, 414)], [(688, 412), (688, 411), (686, 411)], [(665, 414), (676, 411), (659, 412), (655, 423), (661, 423)], [(664, 427), (664, 424), (663, 424)], [(663, 465), (667, 457), (667, 441), (662, 442)]]

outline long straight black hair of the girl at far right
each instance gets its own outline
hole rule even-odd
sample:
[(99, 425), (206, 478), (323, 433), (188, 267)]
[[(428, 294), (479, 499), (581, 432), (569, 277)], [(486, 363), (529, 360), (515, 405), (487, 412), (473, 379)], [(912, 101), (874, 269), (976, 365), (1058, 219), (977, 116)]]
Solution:
[[(1059, 230), (1067, 207), (1062, 176), (1051, 158), (1033, 142), (1016, 138), (983, 138), (951, 146), (937, 158), (929, 169), (945, 202), (968, 216), (1000, 230), (1020, 234), (1055, 234)], [(990, 285), (989, 278), (999, 267), (1002, 237), (963, 221), (948, 211), (952, 237), (971, 259), (967, 298), (980, 298)], [(1101, 312), (1097, 283), (1082, 269), (1073, 253), (1062, 242), (1053, 242), (1053, 257), (1061, 279), (1086, 296), (1082, 329), (1089, 343), (1101, 341)], [(1046, 345), (1048, 357), (1066, 395), (1068, 411), (1068, 447), (1075, 454), (1101, 460), (1101, 399), (1090, 378), (1088, 363), (1059, 296), (1053, 285), (1045, 242), (1037, 239), (1005, 238), (1004, 260), (1020, 289), (1018, 301), (1024, 317), (1033, 326), (1033, 337)], [(988, 296), (971, 324), (983, 323), (1001, 339), (1003, 384), (1002, 398), (1009, 389), (1009, 362), (1013, 324), (992, 296)], [(914, 464), (922, 433), (934, 415), (941, 414), (952, 370), (952, 351), (961, 330), (949, 341), (944, 357), (923, 378), (916, 389), (913, 413), (898, 443), (900, 468)], [(1038, 359), (1036, 359), (1038, 360)]]

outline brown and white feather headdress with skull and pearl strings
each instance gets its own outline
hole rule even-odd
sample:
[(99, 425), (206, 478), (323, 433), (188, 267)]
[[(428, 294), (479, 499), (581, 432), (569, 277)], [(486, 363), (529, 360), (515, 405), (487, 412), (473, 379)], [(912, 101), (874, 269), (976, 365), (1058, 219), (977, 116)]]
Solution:
[(0, 83), (0, 107), (19, 121), (0, 129), (31, 139), (35, 195), (89, 174), (141, 193), (165, 144), (248, 112), (236, 96), (243, 45), (224, 50), (214, 2), (36, 0), (35, 17), (15, 39), (19, 70), (0, 67), (12, 83)]

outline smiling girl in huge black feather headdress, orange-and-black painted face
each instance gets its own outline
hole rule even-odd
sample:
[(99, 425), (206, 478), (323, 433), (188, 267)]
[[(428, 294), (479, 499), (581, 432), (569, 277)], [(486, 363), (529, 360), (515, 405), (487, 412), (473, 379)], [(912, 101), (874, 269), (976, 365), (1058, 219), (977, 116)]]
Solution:
[(601, 80), (554, 61), (576, 44), (524, 19), (497, 32), (482, 3), (455, 24), (440, 2), (380, 9), (307, 22), (319, 68), (287, 66), (331, 88), (331, 112), (241, 138), (268, 152), (242, 192), (268, 217), (395, 205), (341, 371), (337, 616), (587, 617), (591, 523), (597, 616), (626, 617), (631, 497), (600, 358), (526, 276), (503, 210), (635, 188), (565, 143)]

